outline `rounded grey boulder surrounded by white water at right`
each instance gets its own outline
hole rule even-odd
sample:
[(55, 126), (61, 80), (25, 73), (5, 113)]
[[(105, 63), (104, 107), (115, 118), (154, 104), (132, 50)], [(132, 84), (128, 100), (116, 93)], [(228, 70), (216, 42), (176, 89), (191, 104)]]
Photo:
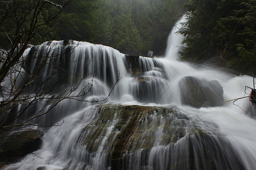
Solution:
[(223, 88), (216, 80), (199, 80), (189, 76), (179, 81), (179, 87), (184, 105), (200, 108), (221, 106), (224, 103)]

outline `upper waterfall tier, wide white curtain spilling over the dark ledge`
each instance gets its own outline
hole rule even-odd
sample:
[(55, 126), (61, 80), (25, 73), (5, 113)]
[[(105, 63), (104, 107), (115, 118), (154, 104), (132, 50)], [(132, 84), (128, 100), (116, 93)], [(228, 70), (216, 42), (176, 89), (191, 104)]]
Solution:
[[(75, 94), (84, 91), (88, 94), (84, 98), (104, 99), (111, 92), (110, 99), (118, 102), (182, 103), (179, 91), (184, 89), (179, 88), (179, 81), (183, 77), (197, 77), (202, 82), (218, 79), (218, 72), (208, 71), (205, 77), (201, 70), (169, 58), (127, 56), (109, 46), (72, 40), (28, 48), (21, 66), (28, 76), (40, 72), (30, 90), (62, 93), (77, 86)], [(209, 100), (199, 107), (206, 102)]]

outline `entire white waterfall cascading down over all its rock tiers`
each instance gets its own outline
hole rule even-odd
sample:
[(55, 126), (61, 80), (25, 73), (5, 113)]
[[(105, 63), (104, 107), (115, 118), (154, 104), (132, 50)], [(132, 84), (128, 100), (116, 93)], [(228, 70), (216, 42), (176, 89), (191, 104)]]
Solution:
[[(56, 72), (57, 88), (50, 89), (57, 94), (79, 83), (73, 94), (87, 92), (94, 75), (92, 89), (79, 99), (102, 100), (121, 79), (104, 104), (60, 102), (44, 124), (65, 123), (44, 129), (39, 150), (3, 169), (254, 169), (255, 107), (248, 99), (237, 101), (246, 113), (224, 102), (244, 96), (252, 77), (176, 61), (178, 51), (170, 47), (176, 39), (170, 41), (164, 58), (125, 56), (77, 41), (29, 48), (27, 57), (47, 54), (49, 66), (67, 70), (45, 67), (37, 80)], [(33, 72), (39, 59), (24, 69)], [(67, 79), (58, 83), (62, 77)]]

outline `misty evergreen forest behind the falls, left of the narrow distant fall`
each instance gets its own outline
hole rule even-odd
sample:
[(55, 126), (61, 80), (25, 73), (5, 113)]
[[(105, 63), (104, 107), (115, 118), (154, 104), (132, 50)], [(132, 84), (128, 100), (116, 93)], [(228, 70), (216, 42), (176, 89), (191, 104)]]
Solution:
[[(124, 54), (147, 55), (148, 51), (154, 51), (155, 55), (160, 55), (165, 50), (170, 30), (184, 12), (182, 5), (185, 1), (72, 0), (67, 3), (65, 0), (52, 0), (50, 2), (63, 7), (61, 15), (44, 29), (36, 32), (30, 43), (73, 39), (112, 46)], [(31, 14), (29, 9), (34, 6), (32, 1), (13, 2), (23, 4), (20, 6), (23, 9), (20, 10)], [(39, 20), (46, 21), (56, 8), (49, 4), (42, 10)], [(1, 10), (3, 15), (6, 12), (4, 9), (3, 7)], [(0, 46), (4, 48), (8, 48), (16, 30), (17, 11), (12, 10), (11, 17), (0, 26)], [(26, 26), (24, 28), (26, 29)]]

